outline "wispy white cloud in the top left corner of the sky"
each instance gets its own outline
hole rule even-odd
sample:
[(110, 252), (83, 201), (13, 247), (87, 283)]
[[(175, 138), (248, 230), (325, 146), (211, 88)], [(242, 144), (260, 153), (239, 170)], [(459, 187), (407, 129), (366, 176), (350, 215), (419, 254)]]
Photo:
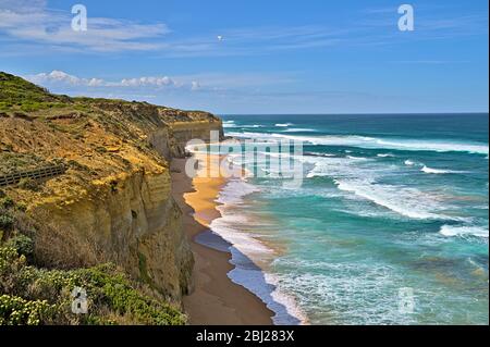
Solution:
[(156, 50), (166, 47), (158, 40), (170, 33), (162, 23), (139, 24), (90, 16), (88, 29), (75, 32), (71, 22), (70, 12), (48, 10), (45, 1), (21, 1), (14, 5), (14, 1), (0, 0), (0, 34), (35, 45), (99, 52)]

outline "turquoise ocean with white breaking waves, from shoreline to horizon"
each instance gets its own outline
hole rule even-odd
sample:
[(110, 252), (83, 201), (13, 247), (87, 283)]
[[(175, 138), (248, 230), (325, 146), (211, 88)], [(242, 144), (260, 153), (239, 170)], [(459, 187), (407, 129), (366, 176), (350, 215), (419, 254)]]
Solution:
[(277, 324), (489, 323), (488, 114), (222, 117), (304, 145), (296, 188), (231, 156), (266, 174), (231, 179), (211, 225)]

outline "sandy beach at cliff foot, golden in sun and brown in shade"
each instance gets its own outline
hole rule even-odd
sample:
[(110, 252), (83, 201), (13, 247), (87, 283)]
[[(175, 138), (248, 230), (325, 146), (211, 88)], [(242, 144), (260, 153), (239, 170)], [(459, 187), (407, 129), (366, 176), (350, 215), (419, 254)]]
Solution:
[[(184, 298), (191, 324), (196, 325), (270, 325), (273, 312), (254, 294), (234, 284), (228, 273), (233, 270), (224, 240), (209, 232), (209, 224), (220, 212), (215, 201), (226, 184), (223, 177), (187, 177), (185, 159), (172, 162), (173, 196), (184, 212), (184, 230), (195, 257), (192, 295)], [(206, 237), (216, 243), (209, 248), (196, 241)], [(212, 239), (212, 237), (217, 239)], [(211, 238), (211, 239), (210, 239)], [(224, 245), (226, 246), (226, 245)], [(220, 249), (221, 250), (218, 250)]]

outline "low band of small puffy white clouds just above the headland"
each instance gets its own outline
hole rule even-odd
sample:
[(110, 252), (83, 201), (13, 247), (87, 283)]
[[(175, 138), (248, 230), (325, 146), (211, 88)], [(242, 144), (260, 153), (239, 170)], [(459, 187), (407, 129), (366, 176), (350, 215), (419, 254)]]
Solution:
[[(177, 76), (143, 76), (124, 77), (121, 79), (105, 79), (100, 77), (81, 77), (63, 71), (54, 70), (24, 76), (37, 85), (57, 94), (72, 96), (120, 98), (127, 100), (146, 100), (155, 102), (158, 98), (166, 103), (168, 98), (180, 96), (182, 99), (194, 100), (207, 96), (243, 97), (244, 95), (261, 95), (262, 88), (275, 86), (283, 88), (296, 80), (294, 73), (203, 73)], [(193, 96), (191, 97), (191, 92)], [(152, 97), (149, 97), (152, 96)]]

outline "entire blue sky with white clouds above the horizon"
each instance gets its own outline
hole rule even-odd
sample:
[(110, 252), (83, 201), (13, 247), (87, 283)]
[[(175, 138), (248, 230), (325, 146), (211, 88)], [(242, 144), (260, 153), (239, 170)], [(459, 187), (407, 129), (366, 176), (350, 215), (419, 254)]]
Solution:
[(0, 0), (1, 71), (221, 114), (488, 112), (488, 59), (487, 0)]

